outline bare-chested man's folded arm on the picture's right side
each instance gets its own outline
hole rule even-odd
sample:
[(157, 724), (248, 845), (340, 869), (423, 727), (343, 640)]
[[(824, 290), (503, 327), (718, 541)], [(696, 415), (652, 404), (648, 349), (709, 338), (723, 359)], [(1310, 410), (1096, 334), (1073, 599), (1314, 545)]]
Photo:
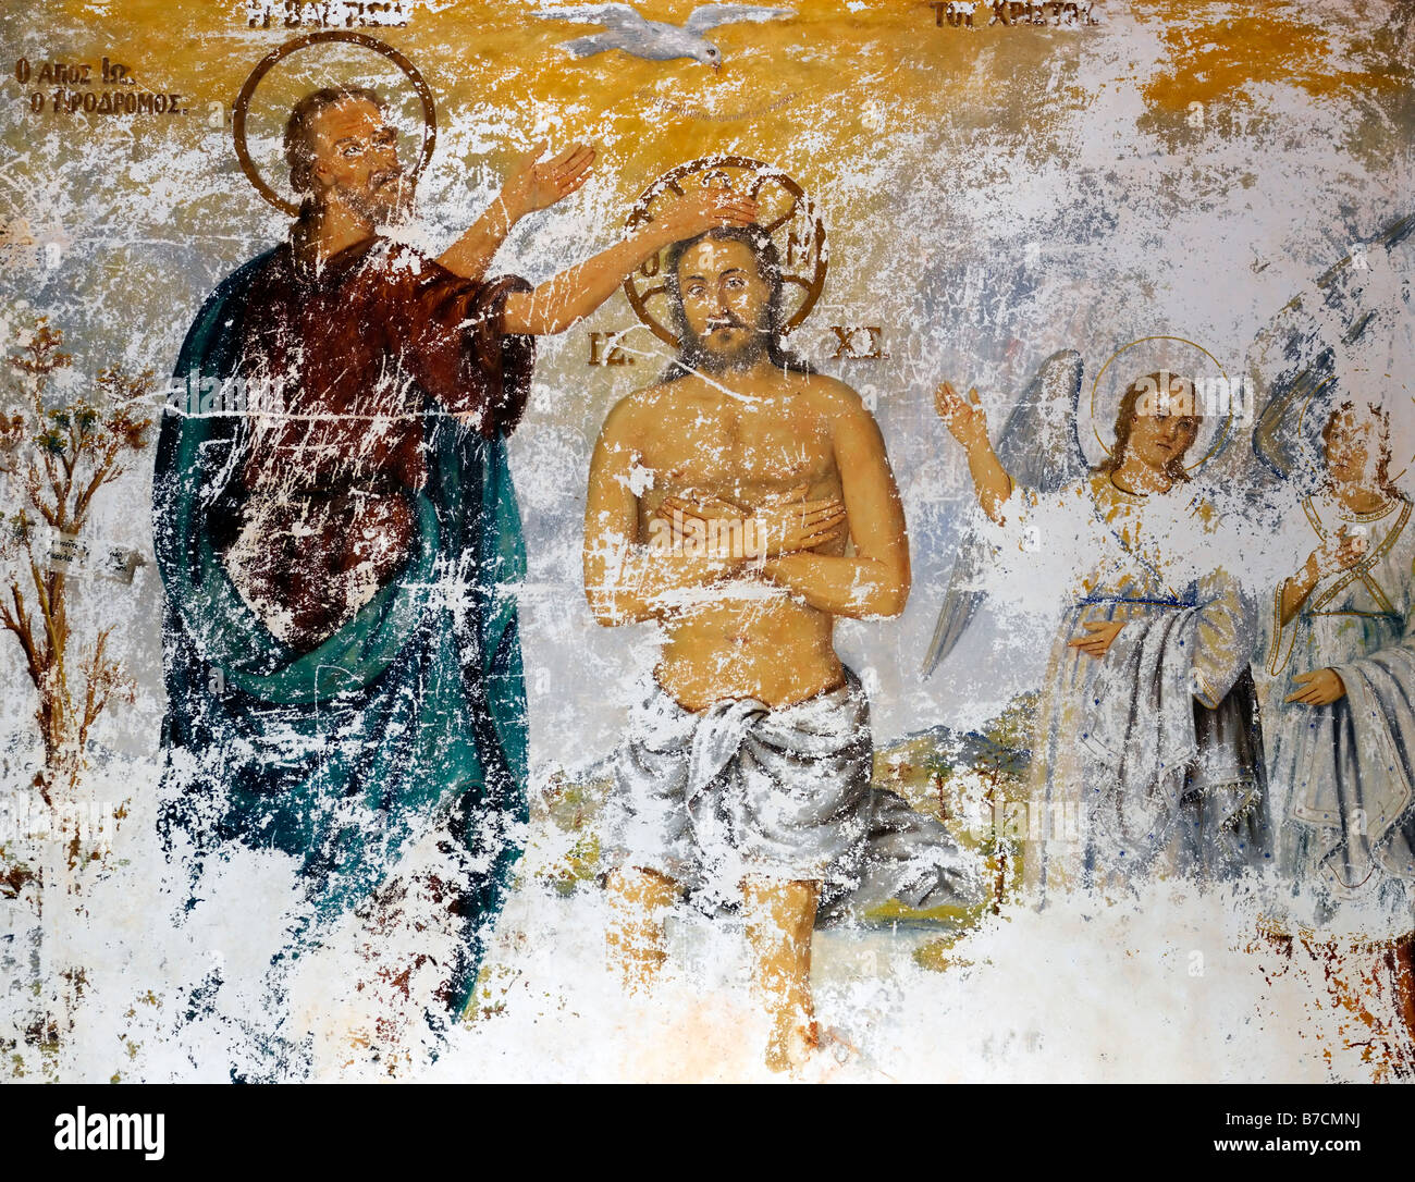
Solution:
[(836, 419), (833, 444), (855, 553), (787, 553), (763, 573), (833, 616), (897, 616), (908, 599), (908, 537), (884, 439), (856, 403)]

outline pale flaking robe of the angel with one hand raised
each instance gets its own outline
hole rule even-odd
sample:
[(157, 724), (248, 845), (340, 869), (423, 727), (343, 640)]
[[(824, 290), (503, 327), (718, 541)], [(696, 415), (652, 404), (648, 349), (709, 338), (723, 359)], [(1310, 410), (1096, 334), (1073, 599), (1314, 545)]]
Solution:
[[(1126, 493), (1102, 471), (1057, 497), (1050, 532), (1084, 568), (1033, 736), (1023, 875), (1043, 897), (1271, 863), (1257, 610), (1223, 568), (1217, 517), (1180, 494)], [(1013, 529), (1037, 517), (1022, 498), (1009, 508)], [(1102, 660), (1071, 644), (1098, 621), (1124, 624)]]

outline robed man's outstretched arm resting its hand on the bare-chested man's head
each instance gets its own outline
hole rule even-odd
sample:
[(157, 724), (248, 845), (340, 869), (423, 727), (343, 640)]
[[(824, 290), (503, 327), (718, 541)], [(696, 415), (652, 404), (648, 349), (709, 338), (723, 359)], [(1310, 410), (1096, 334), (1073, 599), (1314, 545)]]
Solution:
[(616, 246), (563, 270), (533, 292), (507, 297), (505, 331), (543, 335), (563, 333), (618, 290), (624, 277), (645, 259), (683, 238), (716, 226), (746, 226), (757, 217), (757, 202), (727, 188), (688, 194)]

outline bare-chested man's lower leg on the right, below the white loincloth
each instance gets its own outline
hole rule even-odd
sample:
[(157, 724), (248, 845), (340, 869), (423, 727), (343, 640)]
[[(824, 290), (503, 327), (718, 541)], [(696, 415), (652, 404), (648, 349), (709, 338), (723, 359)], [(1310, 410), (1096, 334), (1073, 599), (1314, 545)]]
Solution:
[(811, 1001), (811, 931), (819, 882), (747, 878), (741, 883), (753, 975), (771, 1018), (767, 1066), (802, 1066), (819, 1045)]

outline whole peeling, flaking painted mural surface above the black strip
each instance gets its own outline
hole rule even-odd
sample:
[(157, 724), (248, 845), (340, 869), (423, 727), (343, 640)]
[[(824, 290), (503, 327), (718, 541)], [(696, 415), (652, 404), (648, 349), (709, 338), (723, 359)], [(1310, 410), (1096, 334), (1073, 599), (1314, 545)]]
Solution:
[[(0, 1077), (1415, 1070), (1415, 6), (989, 24), (992, 4), (795, 0), (706, 28), (716, 65), (641, 55), (691, 0), (635, 3), (658, 33), (395, 7), (0, 10)], [(258, 62), (331, 24), (396, 50), (436, 109), (415, 202), (378, 218), (383, 270), (355, 251), (299, 272), (290, 212), (233, 146)], [(608, 34), (628, 48), (565, 50)], [(376, 92), (405, 166), (427, 136), (393, 58), (290, 52), (245, 139), (291, 208), (316, 190), (291, 187), (286, 125), (324, 86)], [(508, 228), (494, 201), (542, 140), (542, 166), (590, 144), (593, 167)], [(567, 270), (689, 218), (654, 188), (678, 168), (685, 202), (787, 202), (791, 331), (750, 323), (766, 279), (741, 242), (689, 249), (675, 286), (654, 239), (576, 304), (593, 283)], [(260, 335), (275, 297), (248, 311), (219, 285), (282, 249), (296, 327)], [(301, 283), (338, 311), (300, 321)], [(754, 333), (774, 351), (751, 377), (733, 348)], [(1187, 385), (1132, 398), (1118, 446), (1146, 375)], [(321, 444), (301, 415), (361, 426)], [(399, 440), (420, 476), (388, 460)], [(713, 518), (801, 501), (801, 552), (766, 525), (754, 555), (693, 551), (732, 545)], [(1121, 624), (1109, 650), (1071, 644), (1088, 624)], [(647, 797), (624, 821), (623, 752), (655, 678), (713, 723), (662, 805), (691, 858), (720, 838), (771, 890), (825, 888), (814, 934), (807, 914), (774, 953), (737, 871), (726, 906), (665, 905), (657, 984), (625, 991), (611, 872), (669, 865), (662, 827), (621, 832), (648, 824)], [(853, 684), (865, 722), (821, 708), (811, 742), (788, 735), (784, 711)], [(1307, 685), (1340, 694), (1286, 701)], [(852, 803), (824, 815), (836, 787)], [(842, 917), (831, 885), (863, 899), (886, 856), (880, 794), (914, 818), (891, 831), (914, 878)], [(761, 967), (807, 948), (809, 1001), (781, 1001)]]

